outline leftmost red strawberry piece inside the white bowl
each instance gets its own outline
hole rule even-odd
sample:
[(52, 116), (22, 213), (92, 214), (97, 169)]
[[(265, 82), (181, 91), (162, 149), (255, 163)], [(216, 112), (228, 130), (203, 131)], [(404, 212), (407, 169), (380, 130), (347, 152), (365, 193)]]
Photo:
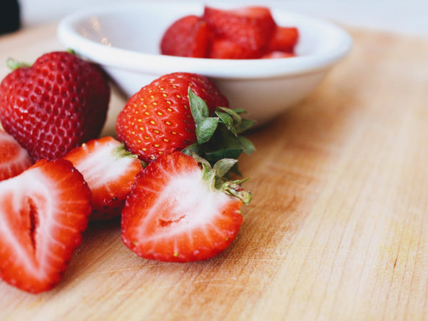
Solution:
[(184, 16), (163, 34), (161, 54), (206, 58), (213, 34), (199, 16)]

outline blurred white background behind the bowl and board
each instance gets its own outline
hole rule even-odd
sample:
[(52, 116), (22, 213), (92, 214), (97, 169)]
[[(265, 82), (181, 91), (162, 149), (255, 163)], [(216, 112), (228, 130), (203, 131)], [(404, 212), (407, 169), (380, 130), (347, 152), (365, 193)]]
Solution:
[[(26, 27), (57, 21), (87, 6), (102, 6), (122, 0), (19, 0)], [(164, 0), (133, 0), (133, 2)], [(179, 0), (175, 0), (178, 2)], [(191, 0), (188, 0), (190, 2)], [(194, 2), (210, 3), (193, 0)], [(126, 1), (130, 2), (130, 1)], [(280, 6), (300, 14), (336, 21), (348, 26), (393, 31), (428, 38), (428, 0), (230, 0), (237, 6)], [(217, 1), (211, 1), (215, 6)]]

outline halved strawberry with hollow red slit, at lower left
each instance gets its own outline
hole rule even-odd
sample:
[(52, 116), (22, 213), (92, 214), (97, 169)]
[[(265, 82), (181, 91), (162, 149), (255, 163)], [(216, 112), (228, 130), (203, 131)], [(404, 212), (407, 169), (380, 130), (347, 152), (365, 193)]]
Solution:
[(0, 182), (0, 276), (29, 292), (60, 280), (91, 213), (91, 191), (69, 161), (42, 160)]

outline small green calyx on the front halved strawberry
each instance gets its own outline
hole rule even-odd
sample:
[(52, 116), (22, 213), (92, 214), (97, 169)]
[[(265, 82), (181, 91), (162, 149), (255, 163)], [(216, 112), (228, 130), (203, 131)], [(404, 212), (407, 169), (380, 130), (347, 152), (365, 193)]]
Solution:
[(223, 158), (211, 166), (208, 161), (198, 156), (198, 154), (191, 153), (191, 156), (202, 165), (203, 180), (208, 184), (210, 190), (218, 190), (239, 198), (244, 204), (250, 203), (253, 195), (241, 186), (248, 178), (243, 180), (228, 180), (225, 178), (229, 170), (238, 162), (236, 159)]

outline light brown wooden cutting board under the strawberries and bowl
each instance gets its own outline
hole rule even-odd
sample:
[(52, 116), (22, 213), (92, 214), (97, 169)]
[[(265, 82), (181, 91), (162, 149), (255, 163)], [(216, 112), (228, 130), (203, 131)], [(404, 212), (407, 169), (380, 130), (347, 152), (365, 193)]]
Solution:
[[(55, 25), (0, 38), (0, 61), (63, 49)], [(90, 225), (56, 289), (0, 282), (1, 320), (422, 320), (428, 315), (428, 41), (349, 29), (352, 54), (252, 133), (253, 203), (212, 260), (143, 260)], [(0, 67), (1, 78), (6, 68)], [(114, 96), (105, 133), (123, 106)]]

